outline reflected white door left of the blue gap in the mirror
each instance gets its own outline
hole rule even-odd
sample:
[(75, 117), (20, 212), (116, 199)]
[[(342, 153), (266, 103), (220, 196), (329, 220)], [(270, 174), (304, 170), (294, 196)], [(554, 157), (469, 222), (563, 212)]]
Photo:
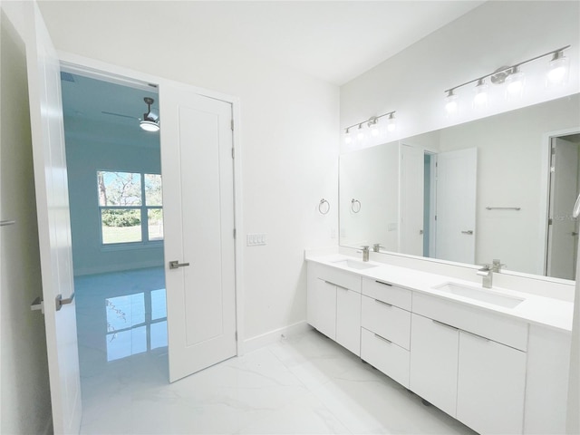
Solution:
[(423, 150), (401, 145), (401, 240), (400, 252), (423, 255)]

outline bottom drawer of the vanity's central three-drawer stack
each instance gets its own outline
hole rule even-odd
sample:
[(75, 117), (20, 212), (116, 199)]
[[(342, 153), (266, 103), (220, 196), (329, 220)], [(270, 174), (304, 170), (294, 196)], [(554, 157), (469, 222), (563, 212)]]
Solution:
[(409, 351), (361, 328), (361, 358), (409, 388)]

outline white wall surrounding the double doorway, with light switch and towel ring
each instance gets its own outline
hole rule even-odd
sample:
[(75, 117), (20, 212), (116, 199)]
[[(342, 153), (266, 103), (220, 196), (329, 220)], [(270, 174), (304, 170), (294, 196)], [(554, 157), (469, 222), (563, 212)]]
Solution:
[[(335, 245), (339, 90), (242, 47), (183, 41), (180, 2), (43, 2), (57, 49), (241, 101), (245, 338), (305, 319), (304, 247)], [(179, 24), (180, 23), (180, 24)], [(106, 31), (103, 31), (106, 29)], [(150, 37), (147, 37), (150, 35)], [(142, 45), (146, 41), (150, 50)], [(161, 114), (162, 116), (162, 114)], [(321, 216), (326, 198), (330, 212)]]

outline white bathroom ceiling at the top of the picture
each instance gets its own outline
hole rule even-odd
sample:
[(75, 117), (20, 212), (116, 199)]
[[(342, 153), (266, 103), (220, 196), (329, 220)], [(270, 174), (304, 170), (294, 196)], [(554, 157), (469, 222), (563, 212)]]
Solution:
[[(65, 27), (92, 32), (103, 43), (111, 26), (127, 28), (128, 38), (138, 36), (143, 43), (170, 32), (183, 42), (201, 41), (208, 50), (247, 50), (342, 85), (483, 3), (77, 0), (40, 5), (49, 30), (64, 45), (69, 35), (59, 34), (66, 30), (57, 23), (67, 17)], [(102, 18), (95, 23), (92, 16)]]

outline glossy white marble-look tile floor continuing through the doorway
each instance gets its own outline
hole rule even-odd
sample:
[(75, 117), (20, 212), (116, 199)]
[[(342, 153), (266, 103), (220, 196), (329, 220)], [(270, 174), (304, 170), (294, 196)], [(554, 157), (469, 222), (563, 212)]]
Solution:
[[(164, 285), (152, 271), (141, 273), (149, 289), (133, 276), (128, 299), (104, 295), (125, 321), (114, 311), (107, 317), (102, 296), (80, 297), (84, 434), (475, 433), (315, 331), (169, 383)], [(89, 300), (102, 318), (90, 318)], [(118, 334), (114, 351), (104, 341), (108, 322)], [(131, 347), (123, 350), (125, 342)]]

